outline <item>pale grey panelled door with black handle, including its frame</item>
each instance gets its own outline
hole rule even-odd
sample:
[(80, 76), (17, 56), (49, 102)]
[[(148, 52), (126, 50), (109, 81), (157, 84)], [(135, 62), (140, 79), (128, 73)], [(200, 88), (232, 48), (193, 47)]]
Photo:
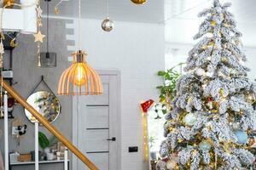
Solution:
[[(73, 114), (77, 114), (75, 138), (79, 150), (100, 170), (119, 170), (119, 76), (102, 75), (101, 78), (102, 95), (73, 99)], [(89, 168), (77, 161), (77, 169)]]

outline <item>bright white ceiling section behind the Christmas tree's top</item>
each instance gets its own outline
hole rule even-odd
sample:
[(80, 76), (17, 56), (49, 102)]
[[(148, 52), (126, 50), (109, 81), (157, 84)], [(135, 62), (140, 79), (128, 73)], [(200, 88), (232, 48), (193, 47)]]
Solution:
[[(219, 1), (221, 3), (231, 2), (233, 4), (230, 7), (230, 12), (235, 14), (237, 29), (243, 34), (243, 44), (256, 47), (256, 1)], [(166, 9), (166, 42), (195, 44), (192, 37), (197, 33), (202, 20), (197, 17), (197, 14), (202, 9), (209, 8), (212, 5), (212, 0), (166, 0), (166, 2), (169, 2), (166, 3), (166, 6), (168, 6)], [(175, 4), (175, 7), (173, 7), (173, 4)], [(170, 8), (176, 9), (170, 10)]]

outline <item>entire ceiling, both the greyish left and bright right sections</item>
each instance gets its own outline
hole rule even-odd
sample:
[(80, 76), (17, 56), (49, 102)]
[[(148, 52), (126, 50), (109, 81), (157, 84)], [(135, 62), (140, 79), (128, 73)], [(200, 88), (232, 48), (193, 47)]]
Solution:
[[(60, 0), (50, 2), (50, 12)], [(107, 0), (81, 0), (82, 17), (102, 20), (107, 13)], [(231, 2), (230, 12), (235, 14), (238, 30), (243, 33), (246, 46), (256, 47), (256, 1), (219, 0)], [(42, 0), (42, 8), (45, 3)], [(61, 17), (77, 17), (79, 0), (63, 1), (59, 6)], [(135, 5), (131, 0), (108, 0), (112, 20), (166, 24), (166, 42), (195, 44), (192, 37), (198, 31), (201, 19), (197, 14), (212, 5), (212, 0), (148, 0)], [(44, 10), (45, 11), (45, 10)]]

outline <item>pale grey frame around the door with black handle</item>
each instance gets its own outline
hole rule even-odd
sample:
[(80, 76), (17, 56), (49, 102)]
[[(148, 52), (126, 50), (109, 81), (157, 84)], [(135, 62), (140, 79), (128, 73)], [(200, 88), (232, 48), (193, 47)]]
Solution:
[[(117, 130), (117, 134), (116, 134), (116, 142), (117, 142), (117, 167), (119, 170), (121, 170), (121, 80), (120, 80), (120, 71), (117, 70), (98, 70), (97, 71), (99, 73), (100, 76), (115, 76), (117, 77), (117, 120), (118, 122), (116, 122), (116, 130)], [(103, 92), (104, 93), (104, 92)], [(77, 136), (79, 135), (79, 116), (77, 114), (77, 98), (76, 97), (72, 97), (72, 114), (73, 114), (73, 135), (72, 135), (72, 140), (73, 140), (73, 144), (75, 146), (79, 146), (79, 141), (77, 139)], [(72, 153), (71, 153), (72, 154)], [(78, 168), (78, 158), (77, 156), (72, 154), (72, 169), (73, 170), (77, 170)]]

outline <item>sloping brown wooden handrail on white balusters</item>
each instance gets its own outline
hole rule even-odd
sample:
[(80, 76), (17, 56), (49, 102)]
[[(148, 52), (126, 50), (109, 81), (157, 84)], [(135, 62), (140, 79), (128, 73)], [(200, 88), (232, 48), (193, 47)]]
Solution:
[(45, 118), (44, 116), (41, 116), (38, 111), (36, 111), (31, 105), (29, 105), (25, 99), (23, 99), (20, 94), (18, 94), (15, 90), (15, 88), (12, 88), (9, 86), (7, 82), (2, 82), (2, 78), (0, 77), (0, 84), (3, 83), (3, 88), (14, 98), (16, 99), (20, 105), (26, 108), (27, 111), (29, 111), (32, 116), (34, 116), (38, 122), (41, 122), (44, 127), (46, 127), (50, 133), (54, 134), (57, 139), (61, 141), (62, 144), (64, 144), (68, 150), (72, 151), (74, 155), (78, 156), (78, 158), (84, 162), (84, 164), (89, 167), (91, 170), (99, 170), (84, 154), (77, 149), (68, 139), (66, 139), (60, 131), (58, 131), (55, 127), (53, 127)]

